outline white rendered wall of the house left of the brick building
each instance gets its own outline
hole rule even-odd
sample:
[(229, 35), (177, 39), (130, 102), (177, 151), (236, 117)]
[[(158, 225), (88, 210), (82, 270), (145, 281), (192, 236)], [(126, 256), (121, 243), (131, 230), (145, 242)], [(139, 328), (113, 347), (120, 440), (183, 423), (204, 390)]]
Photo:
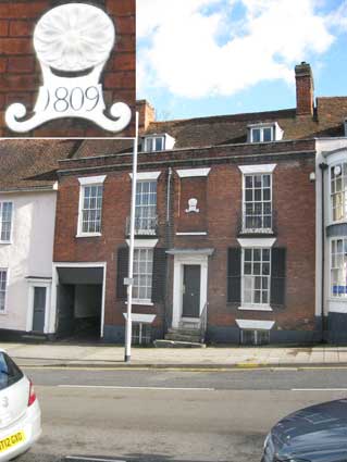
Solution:
[(0, 267), (8, 269), (5, 313), (0, 314), (0, 328), (30, 329), (27, 277), (52, 276), (55, 199), (55, 191), (0, 193), (0, 201), (13, 203), (12, 242), (0, 244)]

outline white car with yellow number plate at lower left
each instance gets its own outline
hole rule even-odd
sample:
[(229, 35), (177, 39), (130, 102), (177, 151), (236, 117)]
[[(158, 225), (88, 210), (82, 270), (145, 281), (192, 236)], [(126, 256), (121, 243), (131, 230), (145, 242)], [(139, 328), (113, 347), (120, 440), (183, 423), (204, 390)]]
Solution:
[(41, 434), (41, 411), (32, 382), (0, 350), (0, 462), (27, 451)]

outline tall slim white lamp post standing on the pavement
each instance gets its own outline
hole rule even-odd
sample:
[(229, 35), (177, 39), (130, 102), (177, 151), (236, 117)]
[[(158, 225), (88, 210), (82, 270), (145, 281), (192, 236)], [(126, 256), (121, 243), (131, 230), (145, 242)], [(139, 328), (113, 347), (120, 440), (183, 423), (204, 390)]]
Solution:
[(136, 201), (136, 179), (137, 179), (137, 151), (138, 151), (138, 112), (135, 117), (135, 138), (133, 148), (133, 182), (132, 182), (132, 207), (131, 207), (131, 242), (128, 258), (127, 284), (127, 308), (125, 326), (125, 353), (124, 361), (131, 362), (132, 358), (132, 303), (133, 303), (133, 272), (134, 272), (134, 235), (135, 235), (135, 201)]

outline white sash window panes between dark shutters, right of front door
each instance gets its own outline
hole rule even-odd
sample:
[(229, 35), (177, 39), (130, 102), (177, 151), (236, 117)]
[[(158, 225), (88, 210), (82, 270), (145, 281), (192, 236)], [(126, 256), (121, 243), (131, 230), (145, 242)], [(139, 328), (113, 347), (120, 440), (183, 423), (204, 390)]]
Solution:
[(243, 304), (270, 304), (271, 249), (244, 249)]

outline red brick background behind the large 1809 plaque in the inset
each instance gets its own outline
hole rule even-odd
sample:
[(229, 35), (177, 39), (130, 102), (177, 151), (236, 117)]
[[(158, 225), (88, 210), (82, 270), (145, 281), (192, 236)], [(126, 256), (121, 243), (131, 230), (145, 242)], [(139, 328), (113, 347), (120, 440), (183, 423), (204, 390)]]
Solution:
[[(41, 84), (41, 72), (33, 48), (33, 32), (40, 16), (51, 8), (69, 1), (0, 1), (0, 136), (21, 136), (5, 127), (4, 111), (12, 102), (23, 102), (30, 112)], [(102, 73), (107, 108), (126, 102), (135, 108), (135, 0), (91, 0), (103, 8), (116, 27), (116, 45)], [(116, 136), (132, 136), (134, 124)], [(36, 137), (114, 136), (91, 122), (62, 118), (49, 122), (33, 133)]]

